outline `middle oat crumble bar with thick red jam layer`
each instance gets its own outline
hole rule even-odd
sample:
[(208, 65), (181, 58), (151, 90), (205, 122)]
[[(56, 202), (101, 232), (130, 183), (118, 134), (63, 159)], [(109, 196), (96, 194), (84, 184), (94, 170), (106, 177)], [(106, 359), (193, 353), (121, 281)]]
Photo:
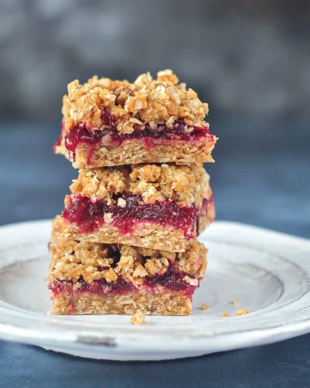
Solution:
[(65, 198), (64, 236), (184, 252), (214, 220), (202, 163), (79, 170)]

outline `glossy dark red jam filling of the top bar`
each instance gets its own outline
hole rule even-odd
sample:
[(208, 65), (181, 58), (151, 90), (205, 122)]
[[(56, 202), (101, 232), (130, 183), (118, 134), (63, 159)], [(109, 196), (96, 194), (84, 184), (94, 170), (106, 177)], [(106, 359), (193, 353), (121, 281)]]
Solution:
[(118, 147), (125, 140), (142, 139), (145, 147), (151, 150), (155, 144), (162, 144), (169, 140), (192, 141), (212, 136), (208, 127), (202, 126), (193, 126), (194, 130), (187, 132), (186, 123), (181, 120), (175, 121), (172, 127), (168, 127), (166, 124), (157, 124), (155, 130), (151, 129), (149, 123), (145, 123), (143, 129), (136, 125), (132, 133), (125, 134), (117, 131), (115, 118), (108, 111), (102, 112), (101, 120), (106, 126), (103, 130), (93, 130), (87, 128), (86, 125), (71, 128), (65, 135), (66, 149), (75, 152), (79, 144), (86, 144), (92, 152), (95, 145), (100, 142)]

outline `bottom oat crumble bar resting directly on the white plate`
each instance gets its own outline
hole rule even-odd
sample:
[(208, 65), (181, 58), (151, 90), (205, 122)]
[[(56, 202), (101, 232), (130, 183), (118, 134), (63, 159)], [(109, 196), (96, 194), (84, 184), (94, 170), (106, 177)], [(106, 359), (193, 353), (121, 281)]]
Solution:
[(184, 253), (63, 239), (55, 218), (49, 289), (53, 314), (188, 315), (207, 266), (194, 240)]

